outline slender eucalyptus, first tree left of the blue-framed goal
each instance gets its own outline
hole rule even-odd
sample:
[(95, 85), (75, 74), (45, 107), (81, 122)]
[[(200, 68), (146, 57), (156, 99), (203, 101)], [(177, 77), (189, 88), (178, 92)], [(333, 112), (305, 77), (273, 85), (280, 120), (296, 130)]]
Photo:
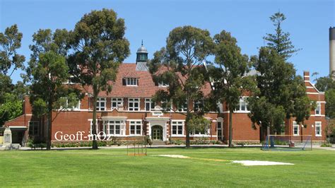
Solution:
[(230, 33), (223, 30), (213, 37), (215, 59), (209, 67), (212, 91), (217, 101), (224, 101), (229, 110), (229, 147), (233, 146), (233, 113), (239, 105), (240, 98), (247, 90), (255, 86), (251, 78), (245, 76), (249, 71), (249, 61), (242, 54), (237, 40)]

